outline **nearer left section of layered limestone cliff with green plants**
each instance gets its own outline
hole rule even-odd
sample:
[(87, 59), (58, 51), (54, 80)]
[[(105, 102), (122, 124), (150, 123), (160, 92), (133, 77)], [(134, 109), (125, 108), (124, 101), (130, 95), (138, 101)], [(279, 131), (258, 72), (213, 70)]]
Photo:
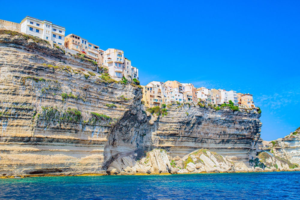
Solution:
[(33, 39), (0, 39), (0, 173), (99, 172), (107, 134), (140, 88)]

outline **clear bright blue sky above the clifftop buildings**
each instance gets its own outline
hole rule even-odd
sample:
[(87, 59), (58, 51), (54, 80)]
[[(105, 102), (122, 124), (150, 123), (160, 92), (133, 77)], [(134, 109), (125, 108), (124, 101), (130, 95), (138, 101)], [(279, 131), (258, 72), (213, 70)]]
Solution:
[(122, 49), (143, 85), (177, 80), (253, 94), (264, 140), (300, 126), (300, 1), (3, 1), (1, 7), (0, 19), (46, 19), (101, 49)]

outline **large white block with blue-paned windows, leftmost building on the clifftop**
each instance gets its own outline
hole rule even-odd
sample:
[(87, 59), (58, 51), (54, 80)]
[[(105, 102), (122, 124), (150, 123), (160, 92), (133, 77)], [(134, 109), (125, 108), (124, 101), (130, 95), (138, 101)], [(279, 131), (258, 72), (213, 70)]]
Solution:
[(53, 43), (64, 45), (64, 34), (66, 29), (53, 24), (50, 21), (35, 19), (26, 16), (21, 21), (21, 32), (35, 36)]

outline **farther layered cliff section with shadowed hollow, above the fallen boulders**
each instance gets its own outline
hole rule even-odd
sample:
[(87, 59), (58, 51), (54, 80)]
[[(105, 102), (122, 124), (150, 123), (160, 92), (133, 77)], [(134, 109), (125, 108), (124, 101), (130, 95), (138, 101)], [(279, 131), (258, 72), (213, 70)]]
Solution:
[[(140, 103), (139, 103), (140, 104)], [(147, 114), (133, 106), (113, 128), (106, 160), (120, 152), (153, 148), (167, 150), (171, 157), (184, 157), (207, 148), (232, 160), (247, 162), (261, 149), (260, 115), (256, 112), (215, 111), (187, 105), (168, 105), (167, 116)], [(135, 150), (135, 151), (134, 151)], [(124, 154), (124, 153), (123, 153)], [(127, 155), (126, 155), (127, 156)]]

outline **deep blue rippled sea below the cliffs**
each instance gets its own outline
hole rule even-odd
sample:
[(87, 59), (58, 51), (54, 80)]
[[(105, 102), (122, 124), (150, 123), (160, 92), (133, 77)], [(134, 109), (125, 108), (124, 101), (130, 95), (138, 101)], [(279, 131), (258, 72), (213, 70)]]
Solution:
[(300, 199), (300, 172), (0, 179), (0, 199)]

